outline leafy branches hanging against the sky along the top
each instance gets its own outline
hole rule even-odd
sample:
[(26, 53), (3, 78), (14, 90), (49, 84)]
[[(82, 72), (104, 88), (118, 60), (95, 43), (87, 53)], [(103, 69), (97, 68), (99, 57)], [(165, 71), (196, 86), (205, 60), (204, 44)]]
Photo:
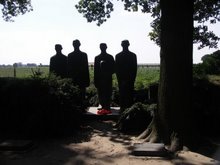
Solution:
[[(161, 10), (159, 0), (121, 0), (127, 11), (141, 10), (143, 13), (151, 13), (154, 20), (151, 22), (152, 31), (150, 39), (160, 45), (160, 18)], [(2, 14), (5, 21), (13, 21), (13, 17), (32, 11), (31, 0), (0, 0), (3, 6)], [(75, 6), (79, 13), (88, 22), (103, 24), (114, 11), (112, 0), (79, 0)], [(219, 0), (194, 0), (194, 36), (193, 43), (199, 44), (199, 49), (204, 47), (217, 48), (219, 37), (210, 31), (206, 23), (215, 24), (220, 21)]]

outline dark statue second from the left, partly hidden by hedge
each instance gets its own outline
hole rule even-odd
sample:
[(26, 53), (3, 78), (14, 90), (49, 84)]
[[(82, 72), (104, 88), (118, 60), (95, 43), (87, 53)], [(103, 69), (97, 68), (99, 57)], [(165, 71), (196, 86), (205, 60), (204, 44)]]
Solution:
[(74, 51), (67, 57), (68, 77), (79, 87), (82, 99), (85, 98), (86, 87), (89, 86), (89, 65), (87, 54), (80, 50), (80, 41), (74, 40)]

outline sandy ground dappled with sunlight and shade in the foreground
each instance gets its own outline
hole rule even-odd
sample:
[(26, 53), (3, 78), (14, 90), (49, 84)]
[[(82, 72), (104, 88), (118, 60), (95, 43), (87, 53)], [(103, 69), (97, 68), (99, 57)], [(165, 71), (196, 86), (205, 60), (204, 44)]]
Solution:
[[(132, 146), (140, 143), (136, 134), (114, 129), (114, 120), (92, 120), (84, 123), (73, 136), (35, 140), (24, 151), (1, 151), (1, 165), (217, 165), (220, 153), (207, 156), (209, 146), (199, 152), (180, 151), (165, 157), (134, 156)], [(219, 142), (218, 142), (219, 143)], [(219, 152), (219, 151), (218, 151)], [(203, 153), (203, 154), (201, 154)], [(214, 156), (217, 156), (214, 159)]]

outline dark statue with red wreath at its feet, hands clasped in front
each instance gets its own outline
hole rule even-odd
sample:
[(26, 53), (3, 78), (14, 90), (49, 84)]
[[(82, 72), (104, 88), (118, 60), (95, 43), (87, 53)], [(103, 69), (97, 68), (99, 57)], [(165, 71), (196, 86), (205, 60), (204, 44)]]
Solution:
[(94, 84), (98, 91), (99, 103), (102, 106), (98, 114), (111, 113), (112, 74), (115, 62), (112, 55), (106, 52), (107, 45), (100, 44), (101, 54), (95, 57), (94, 62)]

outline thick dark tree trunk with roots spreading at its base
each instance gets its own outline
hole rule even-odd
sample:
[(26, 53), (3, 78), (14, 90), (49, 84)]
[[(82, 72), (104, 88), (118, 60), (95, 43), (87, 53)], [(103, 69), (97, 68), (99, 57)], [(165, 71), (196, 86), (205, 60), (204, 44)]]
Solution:
[(160, 137), (180, 146), (190, 132), (193, 1), (161, 0), (161, 52), (158, 112)]

